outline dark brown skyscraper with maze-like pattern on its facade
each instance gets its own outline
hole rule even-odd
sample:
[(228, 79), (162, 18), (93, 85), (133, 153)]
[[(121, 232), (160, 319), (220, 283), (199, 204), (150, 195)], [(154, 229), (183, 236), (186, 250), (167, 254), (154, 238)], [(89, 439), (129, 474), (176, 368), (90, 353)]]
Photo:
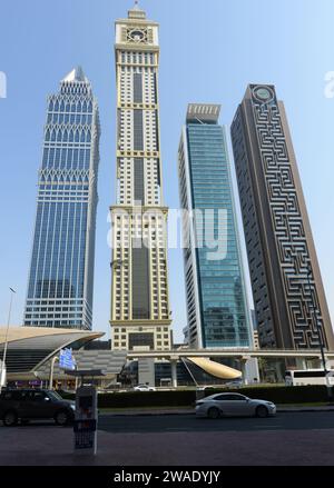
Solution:
[(250, 84), (232, 125), (262, 347), (334, 349), (333, 330), (285, 109)]

